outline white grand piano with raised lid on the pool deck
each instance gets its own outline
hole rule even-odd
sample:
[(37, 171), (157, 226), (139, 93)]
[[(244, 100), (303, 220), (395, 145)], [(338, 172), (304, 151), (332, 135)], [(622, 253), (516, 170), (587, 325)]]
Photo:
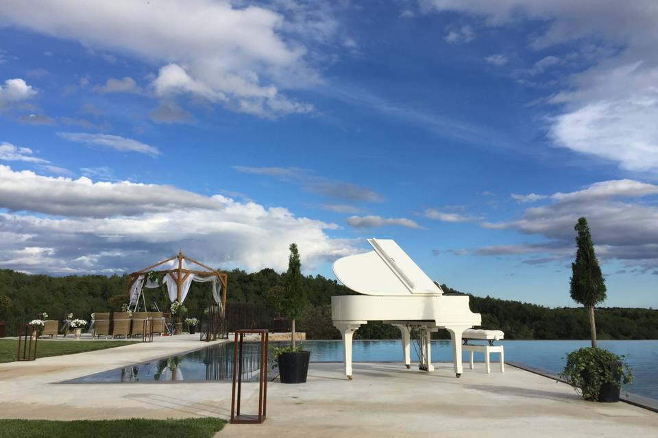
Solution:
[(402, 332), (402, 353), (406, 368), (411, 366), (411, 330), (419, 332), (419, 368), (432, 371), (430, 333), (450, 332), (454, 374), (461, 376), (461, 335), (480, 325), (469, 297), (444, 296), (432, 281), (393, 240), (368, 239), (374, 250), (350, 255), (334, 262), (337, 279), (362, 295), (331, 297), (331, 318), (343, 336), (345, 376), (352, 379), (352, 336), (361, 324), (383, 321)]

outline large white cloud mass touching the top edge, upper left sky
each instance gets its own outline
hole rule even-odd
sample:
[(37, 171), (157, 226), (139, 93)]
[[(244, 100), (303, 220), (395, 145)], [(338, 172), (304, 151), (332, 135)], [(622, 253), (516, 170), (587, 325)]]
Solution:
[(8, 25), (159, 65), (154, 86), (160, 94), (193, 92), (232, 110), (268, 117), (308, 112), (308, 105), (280, 92), (281, 87), (318, 81), (304, 59), (308, 49), (295, 37), (320, 38), (335, 31), (332, 18), (313, 11), (314, 5), (295, 3), (293, 8), (284, 3), (44, 0), (34, 8), (8, 0), (0, 18)]

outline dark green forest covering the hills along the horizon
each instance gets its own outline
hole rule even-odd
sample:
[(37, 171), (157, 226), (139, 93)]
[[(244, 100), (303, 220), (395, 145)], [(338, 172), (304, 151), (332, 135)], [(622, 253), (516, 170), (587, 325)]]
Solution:
[[(247, 273), (228, 271), (228, 302), (268, 304), (271, 287), (284, 285), (284, 274), (271, 269)], [(210, 302), (210, 283), (192, 283), (184, 305), (188, 316), (199, 316)], [(0, 320), (7, 322), (7, 333), (15, 332), (16, 324), (47, 312), (49, 318), (64, 318), (69, 312), (75, 318), (89, 319), (96, 311), (120, 311), (127, 302), (126, 276), (47, 276), (29, 275), (12, 270), (0, 270), (0, 302), (8, 307), (0, 309)], [(331, 324), (331, 296), (351, 294), (350, 289), (324, 276), (305, 276), (304, 289), (308, 305), (299, 330), (308, 339), (340, 339)], [(443, 285), (443, 290), (461, 294)], [(568, 289), (565, 289), (568, 294)], [(614, 291), (610, 291), (611, 294)], [(583, 307), (549, 308), (527, 302), (501, 300), (489, 296), (470, 295), (471, 310), (482, 314), (485, 329), (500, 329), (507, 339), (588, 339), (589, 325)], [(2, 296), (9, 300), (2, 299)], [(147, 305), (167, 311), (169, 300), (164, 287), (149, 289)], [(596, 326), (599, 339), (658, 339), (658, 310), (634, 308), (598, 308)], [(446, 337), (447, 333), (437, 333)], [(370, 322), (355, 333), (360, 339), (397, 339), (400, 332), (381, 322)]]

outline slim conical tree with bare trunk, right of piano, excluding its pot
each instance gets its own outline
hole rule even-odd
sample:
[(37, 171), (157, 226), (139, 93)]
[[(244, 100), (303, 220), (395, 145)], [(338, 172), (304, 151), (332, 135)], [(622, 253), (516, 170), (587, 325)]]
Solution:
[(598, 266), (594, 253), (592, 235), (589, 233), (587, 219), (580, 218), (574, 227), (576, 236), (576, 261), (571, 263), (571, 298), (587, 307), (589, 312), (589, 330), (592, 333), (592, 347), (596, 348), (596, 322), (594, 306), (605, 300), (605, 279)]

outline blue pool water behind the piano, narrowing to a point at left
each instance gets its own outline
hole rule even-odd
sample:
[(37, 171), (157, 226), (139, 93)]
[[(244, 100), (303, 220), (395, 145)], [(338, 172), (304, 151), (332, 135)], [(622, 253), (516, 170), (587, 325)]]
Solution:
[[(526, 363), (550, 372), (559, 373), (568, 352), (589, 346), (589, 341), (502, 341), (505, 346), (505, 361)], [(284, 343), (273, 342), (273, 346)], [(618, 355), (626, 355), (633, 368), (635, 382), (626, 390), (641, 396), (658, 399), (658, 341), (599, 341), (605, 348)], [(310, 350), (312, 362), (342, 362), (343, 343), (341, 341), (306, 341), (304, 348)], [(401, 361), (400, 340), (354, 341), (352, 358), (355, 362)], [(417, 348), (411, 348), (411, 360), (417, 361)], [(463, 355), (467, 361), (467, 354)], [(476, 361), (483, 361), (483, 355), (476, 353)], [(493, 362), (498, 355), (493, 354)], [(137, 363), (126, 368), (91, 374), (66, 383), (164, 383), (232, 381), (233, 344), (214, 344), (207, 348), (188, 352), (184, 355), (168, 357), (156, 361)], [(258, 344), (245, 344), (243, 354), (243, 380), (258, 379)], [(432, 361), (452, 361), (450, 341), (432, 341)], [(477, 366), (477, 365), (476, 365)], [(492, 367), (492, 372), (496, 367)], [(277, 370), (269, 370), (270, 377)]]

